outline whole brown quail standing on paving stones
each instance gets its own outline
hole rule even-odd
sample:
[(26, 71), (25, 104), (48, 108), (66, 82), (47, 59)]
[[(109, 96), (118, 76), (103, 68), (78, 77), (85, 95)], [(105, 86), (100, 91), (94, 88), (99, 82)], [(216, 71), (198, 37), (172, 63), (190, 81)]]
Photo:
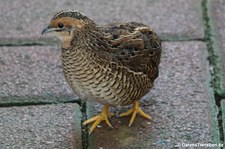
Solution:
[(104, 105), (102, 112), (83, 125), (93, 123), (89, 133), (105, 121), (110, 106), (133, 104), (120, 116), (131, 114), (129, 126), (136, 114), (147, 119), (138, 103), (152, 88), (158, 77), (161, 42), (147, 25), (126, 22), (97, 25), (76, 10), (62, 10), (55, 14), (42, 34), (54, 32), (61, 40), (64, 76), (81, 101)]

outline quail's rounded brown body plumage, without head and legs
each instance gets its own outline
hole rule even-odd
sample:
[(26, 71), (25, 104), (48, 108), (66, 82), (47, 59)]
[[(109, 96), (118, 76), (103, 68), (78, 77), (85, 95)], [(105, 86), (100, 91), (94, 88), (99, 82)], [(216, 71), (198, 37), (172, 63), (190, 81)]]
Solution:
[(161, 54), (151, 29), (123, 23), (78, 32), (71, 47), (63, 49), (62, 61), (65, 77), (81, 99), (128, 105), (148, 93)]

